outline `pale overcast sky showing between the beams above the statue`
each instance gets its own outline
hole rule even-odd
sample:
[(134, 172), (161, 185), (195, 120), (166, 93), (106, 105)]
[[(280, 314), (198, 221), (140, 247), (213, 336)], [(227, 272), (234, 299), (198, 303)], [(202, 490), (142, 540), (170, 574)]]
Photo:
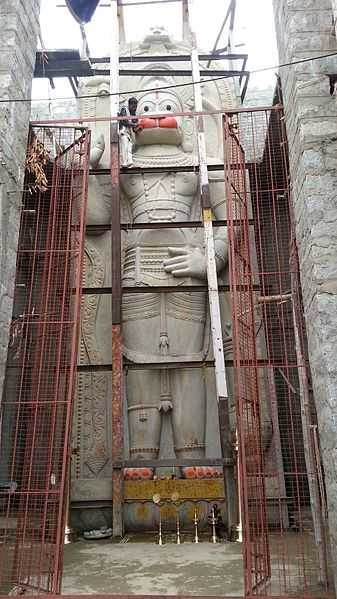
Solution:
[[(108, 0), (101, 0), (100, 4), (108, 3)], [(195, 25), (200, 49), (211, 50), (226, 14), (228, 3), (229, 0), (194, 0)], [(79, 26), (64, 6), (64, 0), (42, 0), (41, 33), (45, 48), (81, 47)], [(125, 7), (124, 15), (128, 41), (141, 40), (149, 28), (155, 25), (165, 25), (174, 38), (181, 39), (180, 2), (166, 3), (162, 6)], [(98, 6), (92, 21), (86, 26), (91, 56), (109, 55), (110, 25), (109, 8)], [(234, 34), (235, 51), (248, 53), (248, 69), (277, 65), (272, 0), (237, 0)], [(219, 47), (224, 45), (220, 41)], [(273, 86), (275, 70), (252, 77), (252, 83), (260, 88)], [(33, 97), (48, 97), (48, 93), (51, 97), (72, 95), (67, 82), (56, 81), (56, 89), (53, 91), (50, 89), (48, 91), (47, 82), (34, 82)]]

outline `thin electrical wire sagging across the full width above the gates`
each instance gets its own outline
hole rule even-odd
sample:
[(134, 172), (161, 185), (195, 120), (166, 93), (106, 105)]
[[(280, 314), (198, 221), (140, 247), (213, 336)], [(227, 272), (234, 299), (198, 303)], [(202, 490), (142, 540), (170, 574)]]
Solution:
[[(278, 65), (274, 65), (274, 66), (270, 66), (270, 67), (263, 67), (260, 69), (253, 69), (252, 71), (249, 71), (249, 74), (256, 74), (256, 73), (263, 73), (265, 71), (277, 71), (278, 69), (283, 69), (285, 67), (291, 67), (293, 65), (297, 65), (297, 64), (303, 64), (305, 62), (313, 62), (316, 60), (323, 60), (324, 58), (330, 58), (332, 56), (337, 56), (337, 52), (331, 52), (330, 54), (322, 54), (320, 56), (313, 56), (313, 57), (309, 57), (309, 58), (301, 58), (299, 60), (294, 60), (292, 62), (285, 62), (282, 64), (278, 64)], [(141, 74), (142, 71), (139, 70), (139, 74)], [(163, 73), (164, 75), (169, 75), (170, 72), (167, 71), (165, 73)], [(97, 73), (97, 75), (99, 75), (99, 73)], [(164, 91), (167, 89), (177, 89), (177, 88), (181, 88), (181, 87), (187, 87), (188, 85), (204, 85), (205, 83), (216, 83), (217, 81), (222, 81), (224, 79), (231, 79), (233, 77), (239, 77), (241, 75), (241, 73), (238, 73), (237, 75), (222, 75), (221, 77), (211, 77), (208, 79), (201, 79), (200, 83), (194, 83), (193, 81), (189, 81), (186, 83), (176, 83), (176, 84), (172, 84), (172, 85), (164, 85), (162, 87), (149, 87), (149, 88), (145, 88), (145, 89), (134, 89), (134, 90), (128, 90), (127, 94), (131, 95), (131, 94), (137, 94), (137, 93), (144, 93), (144, 92), (153, 92), (153, 91)], [(126, 92), (115, 92), (115, 93), (110, 93), (107, 92), (105, 95), (106, 97), (109, 96), (122, 96), (125, 95)], [(76, 99), (77, 100), (85, 100), (87, 98), (97, 98), (100, 97), (100, 94), (85, 94), (83, 96), (78, 96)], [(73, 100), (73, 96), (65, 96), (65, 97), (59, 97), (59, 98), (51, 98), (52, 101), (57, 101), (59, 102), (60, 100)], [(10, 102), (15, 102), (15, 103), (21, 103), (21, 102), (49, 102), (49, 98), (2, 98), (0, 99), (0, 104), (4, 104), (4, 103), (10, 103)]]

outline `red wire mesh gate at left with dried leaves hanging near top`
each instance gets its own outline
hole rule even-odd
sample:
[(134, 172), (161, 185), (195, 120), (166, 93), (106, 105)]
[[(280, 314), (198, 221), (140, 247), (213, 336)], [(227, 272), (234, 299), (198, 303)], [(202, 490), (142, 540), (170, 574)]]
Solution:
[(1, 402), (0, 592), (60, 591), (90, 135), (30, 131)]

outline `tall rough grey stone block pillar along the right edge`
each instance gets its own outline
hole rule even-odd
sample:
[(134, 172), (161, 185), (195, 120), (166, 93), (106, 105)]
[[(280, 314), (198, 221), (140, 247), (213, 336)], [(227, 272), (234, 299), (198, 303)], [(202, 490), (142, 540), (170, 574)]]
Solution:
[[(337, 52), (331, 0), (273, 0), (280, 62)], [(280, 69), (337, 587), (337, 57)]]

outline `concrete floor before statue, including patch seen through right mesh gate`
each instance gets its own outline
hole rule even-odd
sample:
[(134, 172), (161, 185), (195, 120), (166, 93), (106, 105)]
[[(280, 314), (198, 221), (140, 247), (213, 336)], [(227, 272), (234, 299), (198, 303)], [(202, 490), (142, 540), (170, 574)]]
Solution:
[[(185, 542), (174, 535), (160, 547), (155, 538), (130, 535), (118, 543), (85, 541), (65, 546), (64, 595), (220, 595), (243, 596), (240, 543)], [(190, 537), (191, 539), (191, 537)], [(192, 539), (191, 539), (192, 540)], [(317, 556), (311, 533), (270, 535), (272, 595), (326, 597), (317, 585)], [(305, 580), (303, 565), (305, 564)]]

